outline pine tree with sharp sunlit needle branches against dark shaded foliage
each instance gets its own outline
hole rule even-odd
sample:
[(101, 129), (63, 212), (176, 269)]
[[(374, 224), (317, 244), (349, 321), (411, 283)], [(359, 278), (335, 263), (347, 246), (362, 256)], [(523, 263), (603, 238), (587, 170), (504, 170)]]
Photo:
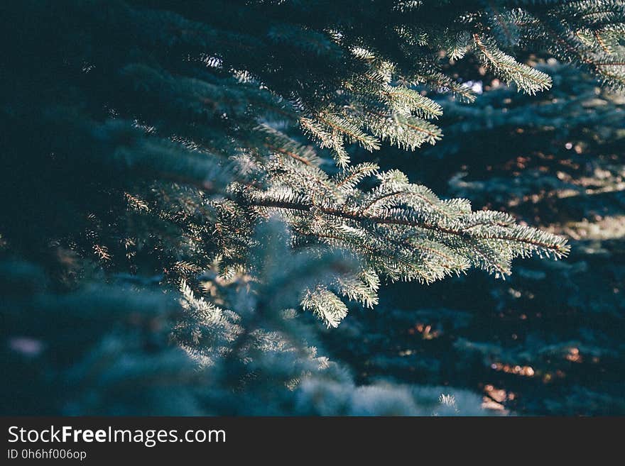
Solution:
[[(267, 353), (290, 367), (284, 384), (305, 387), (298, 380), (314, 372), (312, 353), (303, 330), (283, 329), (293, 314), (284, 309), (300, 306), (335, 327), (349, 301), (377, 304), (382, 281), (431, 283), (470, 267), (503, 277), (514, 257), (569, 250), (564, 238), (509, 214), (472, 211), (469, 201), (440, 199), (398, 170), (353, 164), (350, 152), (437, 143), (442, 107), (433, 97), (474, 99), (445, 66), (467, 54), (526, 94), (552, 81), (509, 55), (517, 45), (546, 49), (622, 89), (624, 8), (614, 1), (3, 5), (1, 253), (7, 267), (17, 260), (40, 270), (46, 293), (82, 296), (82, 304), (72, 301), (77, 312), (67, 312), (73, 319), (99, 306), (102, 292), (81, 294), (90, 284), (131, 284), (141, 296), (158, 284), (165, 296), (182, 296), (173, 342), (201, 367), (226, 367), (224, 387), (268, 396), (263, 383), (275, 377), (266, 371), (283, 366), (266, 362)], [(271, 264), (288, 251), (263, 256), (280, 236), (263, 229), (274, 216), (286, 223), (298, 267)], [(284, 289), (295, 286), (288, 274), (301, 275), (296, 292)], [(31, 286), (22, 294), (33, 294)], [(229, 287), (237, 293), (224, 292)], [(282, 292), (295, 292), (298, 302), (281, 301)], [(4, 311), (38, 302), (23, 299)]]

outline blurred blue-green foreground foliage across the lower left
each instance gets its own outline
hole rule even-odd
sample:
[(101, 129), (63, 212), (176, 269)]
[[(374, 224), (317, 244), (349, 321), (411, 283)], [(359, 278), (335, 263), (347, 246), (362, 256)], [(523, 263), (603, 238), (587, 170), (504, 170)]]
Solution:
[[(317, 355), (298, 311), (301, 289), (350, 263), (337, 254), (292, 255), (281, 225), (259, 232), (257, 279), (202, 277), (212, 300), (187, 284), (163, 294), (149, 280), (72, 294), (45, 292), (43, 270), (0, 262), (4, 300), (4, 414), (40, 415), (465, 415), (479, 399), (445, 387), (371, 384)], [(65, 260), (70, 260), (65, 257)], [(28, 315), (25, 318), (24, 314)], [(170, 344), (174, 338), (176, 345)], [(185, 353), (186, 352), (186, 353)], [(190, 356), (190, 357), (189, 357)]]

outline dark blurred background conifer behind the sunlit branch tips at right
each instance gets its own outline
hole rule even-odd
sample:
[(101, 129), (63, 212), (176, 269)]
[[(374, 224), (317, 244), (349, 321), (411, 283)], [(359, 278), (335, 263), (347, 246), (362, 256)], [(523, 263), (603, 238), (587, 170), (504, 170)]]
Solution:
[(506, 282), (469, 274), (387, 287), (376, 312), (325, 335), (360, 383), (447, 383), (517, 414), (625, 412), (625, 101), (575, 67), (533, 60), (552, 89), (518, 94), (475, 70), (482, 94), (470, 105), (438, 99), (445, 138), (422, 152), (427, 163), (403, 163), (441, 193), (567, 235), (570, 256), (519, 261)]

